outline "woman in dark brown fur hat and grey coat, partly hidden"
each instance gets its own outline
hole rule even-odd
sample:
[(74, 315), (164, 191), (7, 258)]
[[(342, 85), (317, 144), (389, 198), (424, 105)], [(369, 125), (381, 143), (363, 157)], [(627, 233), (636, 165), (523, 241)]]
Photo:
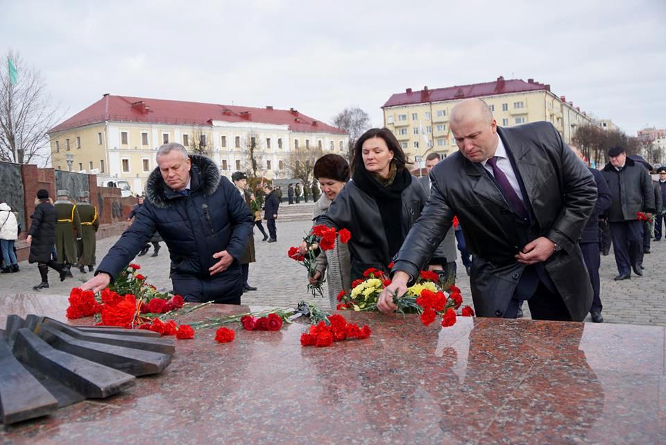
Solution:
[[(314, 219), (328, 210), (335, 197), (345, 187), (349, 176), (349, 164), (342, 156), (327, 154), (315, 162), (314, 177), (323, 193), (314, 204), (312, 212)], [(308, 277), (308, 280), (310, 284), (314, 285), (319, 283), (323, 276), (326, 276), (328, 283), (328, 298), (331, 307), (335, 308), (336, 297), (341, 290), (349, 289), (351, 283), (349, 249), (346, 244), (336, 240), (334, 249), (318, 255), (317, 271), (314, 277)]]

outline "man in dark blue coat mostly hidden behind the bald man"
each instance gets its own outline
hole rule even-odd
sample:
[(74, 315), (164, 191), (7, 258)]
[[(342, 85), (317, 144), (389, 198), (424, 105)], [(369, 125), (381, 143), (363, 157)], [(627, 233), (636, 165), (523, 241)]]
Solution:
[[(583, 160), (583, 154), (579, 149), (573, 145), (570, 145), (570, 148)], [(595, 183), (597, 183), (597, 203), (595, 204), (595, 210), (590, 215), (590, 219), (588, 219), (587, 224), (583, 228), (579, 244), (581, 251), (583, 251), (583, 260), (588, 269), (588, 274), (590, 274), (590, 283), (592, 283), (592, 292), (594, 293), (592, 296), (592, 306), (590, 307), (590, 316), (592, 316), (592, 321), (595, 323), (603, 323), (604, 317), (601, 316), (601, 310), (604, 308), (604, 305), (601, 304), (601, 298), (599, 297), (599, 266), (601, 265), (599, 217), (604, 215), (604, 212), (610, 208), (610, 189), (608, 189), (608, 183), (606, 183), (601, 171), (590, 169), (590, 173), (595, 177)]]

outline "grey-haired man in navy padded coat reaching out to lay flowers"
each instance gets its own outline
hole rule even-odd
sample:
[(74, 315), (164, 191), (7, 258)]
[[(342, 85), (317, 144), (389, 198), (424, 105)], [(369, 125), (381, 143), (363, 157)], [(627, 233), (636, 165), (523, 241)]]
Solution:
[(209, 158), (188, 156), (171, 143), (160, 146), (156, 159), (135, 221), (81, 289), (107, 287), (157, 231), (169, 248), (176, 294), (185, 301), (240, 304), (238, 260), (252, 231), (250, 210)]

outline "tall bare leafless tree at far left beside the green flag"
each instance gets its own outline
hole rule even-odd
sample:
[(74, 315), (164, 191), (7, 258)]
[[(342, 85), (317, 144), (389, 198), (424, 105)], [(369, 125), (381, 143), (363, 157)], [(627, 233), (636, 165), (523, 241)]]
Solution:
[[(11, 59), (17, 68), (17, 83), (10, 82), (6, 69)], [(37, 69), (26, 65), (19, 53), (8, 51), (0, 69), (0, 160), (28, 164), (48, 160), (46, 132), (64, 116), (46, 91)]]

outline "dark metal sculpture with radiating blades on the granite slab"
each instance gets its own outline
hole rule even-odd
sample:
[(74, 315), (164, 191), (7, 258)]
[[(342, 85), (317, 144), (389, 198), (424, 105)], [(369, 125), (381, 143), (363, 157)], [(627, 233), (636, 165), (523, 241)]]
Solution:
[(0, 421), (51, 414), (105, 398), (160, 373), (176, 346), (150, 330), (74, 327), (48, 317), (7, 317), (0, 329)]

